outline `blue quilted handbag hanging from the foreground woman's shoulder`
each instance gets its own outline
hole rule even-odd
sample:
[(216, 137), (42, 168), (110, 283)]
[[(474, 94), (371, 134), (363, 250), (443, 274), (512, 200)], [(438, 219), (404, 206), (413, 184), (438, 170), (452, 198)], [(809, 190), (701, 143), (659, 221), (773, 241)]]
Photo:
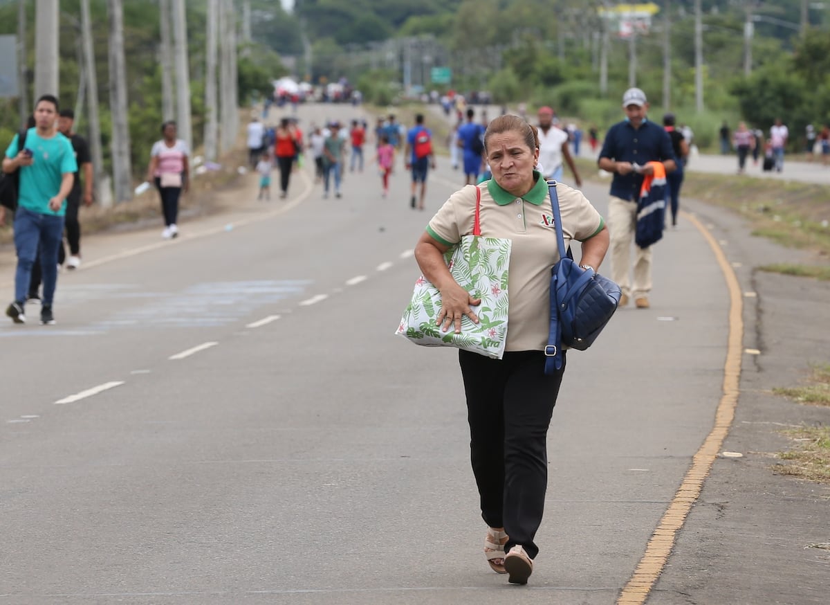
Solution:
[(562, 368), (563, 346), (584, 351), (593, 344), (617, 311), (622, 293), (610, 279), (579, 267), (570, 248), (565, 250), (556, 181), (548, 182), (548, 190), (559, 246), (559, 261), (550, 270), (550, 332), (544, 347), (544, 373), (553, 374)]

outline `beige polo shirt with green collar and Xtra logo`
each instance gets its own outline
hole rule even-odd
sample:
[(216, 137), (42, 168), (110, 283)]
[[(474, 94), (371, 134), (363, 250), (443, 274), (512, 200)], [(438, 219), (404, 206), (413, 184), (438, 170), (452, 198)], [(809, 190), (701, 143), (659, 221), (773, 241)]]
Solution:
[[(505, 351), (542, 351), (548, 344), (550, 322), (550, 268), (559, 260), (553, 209), (548, 185), (534, 172), (536, 184), (517, 198), (495, 180), (481, 189), (481, 235), (512, 240), (507, 292)], [(437, 242), (452, 246), (472, 233), (476, 215), (476, 185), (450, 196), (427, 225)], [(585, 241), (603, 230), (605, 222), (581, 191), (557, 184), (565, 246), (572, 239)]]

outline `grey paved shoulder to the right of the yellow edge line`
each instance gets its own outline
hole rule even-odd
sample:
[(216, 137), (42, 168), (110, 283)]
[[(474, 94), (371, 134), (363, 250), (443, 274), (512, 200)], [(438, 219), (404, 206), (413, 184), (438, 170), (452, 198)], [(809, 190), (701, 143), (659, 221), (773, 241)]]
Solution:
[[(830, 284), (763, 273), (768, 262), (802, 262), (803, 251), (753, 237), (744, 221), (684, 200), (720, 240), (745, 293), (746, 350), (735, 422), (701, 498), (679, 534), (649, 603), (825, 603), (830, 487), (774, 475), (773, 452), (793, 425), (828, 424), (827, 408), (774, 396), (798, 384), (811, 362), (827, 362)], [(809, 321), (804, 321), (808, 317)]]

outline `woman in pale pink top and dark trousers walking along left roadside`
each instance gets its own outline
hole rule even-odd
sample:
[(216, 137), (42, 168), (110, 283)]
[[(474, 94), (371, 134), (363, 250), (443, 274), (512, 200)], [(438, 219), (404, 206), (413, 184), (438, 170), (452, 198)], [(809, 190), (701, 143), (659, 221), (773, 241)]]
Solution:
[(182, 191), (188, 191), (188, 145), (176, 138), (174, 121), (164, 122), (161, 125), (161, 134), (162, 139), (157, 140), (150, 150), (147, 181), (155, 182), (159, 189), (161, 210), (164, 214), (164, 231), (161, 236), (171, 239), (178, 235), (178, 198)]

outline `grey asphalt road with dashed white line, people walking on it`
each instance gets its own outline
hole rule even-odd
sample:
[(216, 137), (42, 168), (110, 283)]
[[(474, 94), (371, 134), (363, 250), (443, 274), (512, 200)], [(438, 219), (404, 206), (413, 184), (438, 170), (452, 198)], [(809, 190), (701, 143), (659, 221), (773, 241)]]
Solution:
[[(461, 184), (447, 165), (428, 211)], [(248, 177), (174, 242), (90, 238), (56, 326), (0, 322), (0, 603), (614, 603), (720, 401), (729, 301), (701, 234), (666, 234), (652, 308), (570, 355), (514, 587), (481, 552), (456, 353), (393, 336), (431, 215), (408, 176), (324, 200), (301, 173), (269, 203)]]

